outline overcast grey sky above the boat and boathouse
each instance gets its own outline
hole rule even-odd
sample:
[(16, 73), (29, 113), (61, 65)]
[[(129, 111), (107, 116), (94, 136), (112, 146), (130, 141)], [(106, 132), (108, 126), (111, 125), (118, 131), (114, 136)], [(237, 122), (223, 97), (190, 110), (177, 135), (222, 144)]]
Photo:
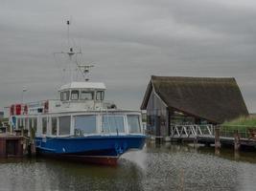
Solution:
[[(138, 109), (151, 74), (234, 76), (256, 112), (255, 0), (0, 0), (0, 107), (56, 98), (65, 20), (106, 98)], [(60, 59), (61, 60), (61, 59)]]

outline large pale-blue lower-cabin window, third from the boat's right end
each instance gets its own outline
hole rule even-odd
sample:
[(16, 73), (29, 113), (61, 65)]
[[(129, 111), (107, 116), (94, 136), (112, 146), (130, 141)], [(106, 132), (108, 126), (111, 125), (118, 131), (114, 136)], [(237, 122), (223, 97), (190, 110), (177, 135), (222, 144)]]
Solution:
[(75, 117), (75, 131), (80, 135), (97, 133), (96, 116)]

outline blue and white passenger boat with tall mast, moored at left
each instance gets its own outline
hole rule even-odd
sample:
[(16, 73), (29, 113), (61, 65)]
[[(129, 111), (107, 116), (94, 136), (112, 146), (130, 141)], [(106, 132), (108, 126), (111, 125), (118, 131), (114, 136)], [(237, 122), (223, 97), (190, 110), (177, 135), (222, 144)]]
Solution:
[[(105, 84), (88, 78), (93, 65), (74, 64), (74, 55), (81, 52), (69, 47), (60, 53), (70, 60), (70, 82), (58, 89), (58, 99), (12, 104), (13, 131), (27, 130), (35, 137), (36, 154), (58, 159), (115, 165), (128, 151), (142, 149), (141, 112), (106, 101)], [(73, 79), (77, 71), (83, 80)]]

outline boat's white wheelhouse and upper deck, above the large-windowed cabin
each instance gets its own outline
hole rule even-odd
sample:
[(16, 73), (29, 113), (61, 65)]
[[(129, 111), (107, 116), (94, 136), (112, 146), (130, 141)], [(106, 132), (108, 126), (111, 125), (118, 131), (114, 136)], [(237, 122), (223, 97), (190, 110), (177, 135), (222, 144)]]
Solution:
[[(28, 114), (82, 112), (113, 109), (113, 102), (105, 101), (105, 84), (99, 82), (71, 82), (58, 90), (58, 99), (27, 104)], [(21, 112), (22, 113), (22, 112)]]

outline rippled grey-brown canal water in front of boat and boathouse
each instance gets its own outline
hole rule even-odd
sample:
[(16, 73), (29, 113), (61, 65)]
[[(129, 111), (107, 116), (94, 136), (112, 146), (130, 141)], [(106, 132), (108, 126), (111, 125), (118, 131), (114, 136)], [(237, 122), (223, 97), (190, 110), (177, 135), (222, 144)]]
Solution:
[(0, 190), (256, 190), (256, 152), (149, 142), (115, 167), (1, 159)]

